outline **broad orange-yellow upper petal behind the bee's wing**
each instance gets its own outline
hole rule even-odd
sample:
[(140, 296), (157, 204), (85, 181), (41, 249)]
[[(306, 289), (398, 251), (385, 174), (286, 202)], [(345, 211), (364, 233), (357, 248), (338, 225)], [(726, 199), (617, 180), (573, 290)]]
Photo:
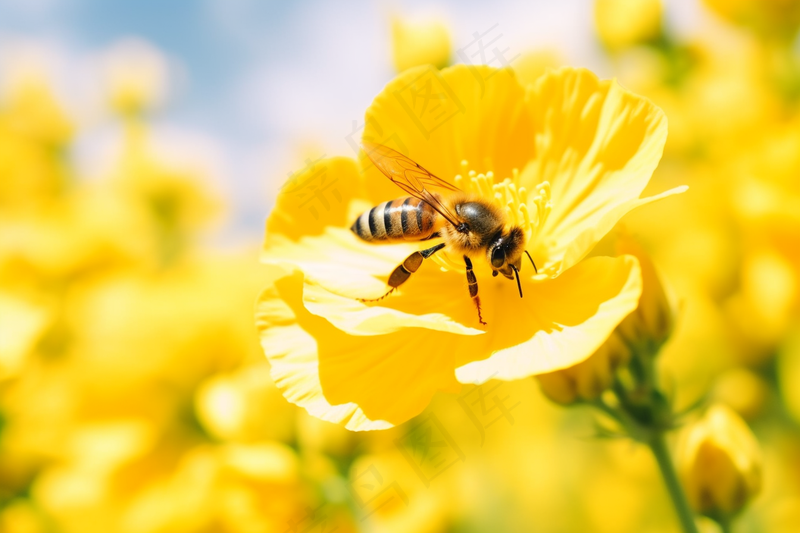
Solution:
[[(389, 82), (367, 110), (363, 137), (452, 182), (464, 159), (478, 172), (510, 177), (530, 159), (532, 133), (513, 70), (456, 65), (409, 69)], [(373, 202), (401, 196), (369, 160), (362, 163)]]

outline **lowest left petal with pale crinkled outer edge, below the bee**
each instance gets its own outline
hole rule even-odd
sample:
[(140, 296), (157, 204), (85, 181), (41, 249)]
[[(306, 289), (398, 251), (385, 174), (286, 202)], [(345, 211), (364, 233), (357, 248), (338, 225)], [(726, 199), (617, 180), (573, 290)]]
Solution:
[(446, 334), (348, 335), (304, 308), (300, 270), (268, 268), (256, 307), (261, 344), (278, 388), (311, 415), (354, 431), (386, 429), (422, 412), (437, 390), (458, 387), (452, 352), (432, 349)]

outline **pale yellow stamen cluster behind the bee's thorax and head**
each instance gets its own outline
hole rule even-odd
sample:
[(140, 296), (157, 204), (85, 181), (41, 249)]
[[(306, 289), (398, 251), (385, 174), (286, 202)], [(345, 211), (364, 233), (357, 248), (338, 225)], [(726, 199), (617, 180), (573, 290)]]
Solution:
[[(543, 181), (529, 192), (519, 184), (519, 170), (512, 171), (510, 178), (500, 182), (495, 180), (491, 170), (477, 173), (469, 170), (469, 163), (461, 161), (461, 173), (456, 175), (456, 187), (464, 192), (490, 199), (506, 212), (507, 226), (520, 226), (525, 231), (526, 247), (531, 249), (537, 242), (547, 217), (552, 210), (550, 183)], [(447, 254), (437, 254), (436, 262), (445, 270), (464, 270), (462, 258), (451, 258)]]

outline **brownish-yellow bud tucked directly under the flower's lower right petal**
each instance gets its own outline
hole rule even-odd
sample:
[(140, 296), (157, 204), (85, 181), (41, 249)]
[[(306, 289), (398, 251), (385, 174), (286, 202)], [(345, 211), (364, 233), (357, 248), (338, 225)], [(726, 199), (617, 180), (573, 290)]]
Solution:
[(568, 405), (579, 400), (594, 400), (614, 380), (616, 369), (630, 359), (630, 350), (615, 333), (588, 359), (569, 368), (536, 376), (542, 392), (550, 400)]

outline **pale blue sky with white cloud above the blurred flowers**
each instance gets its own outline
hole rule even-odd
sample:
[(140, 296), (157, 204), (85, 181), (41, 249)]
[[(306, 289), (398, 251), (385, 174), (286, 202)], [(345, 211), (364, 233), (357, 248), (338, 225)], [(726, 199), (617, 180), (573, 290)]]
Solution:
[[(694, 4), (672, 2), (669, 16), (689, 27)], [(393, 13), (440, 16), (454, 48), (498, 24), (513, 53), (557, 48), (570, 63), (608, 74), (591, 11), (590, 0), (0, 0), (0, 52), (20, 42), (54, 51), (56, 78), (69, 94), (91, 84), (81, 84), (91, 80), (87, 58), (120, 39), (157, 47), (178, 75), (156, 128), (214, 154), (212, 173), (231, 196), (234, 226), (256, 235), (275, 191), (309, 152), (352, 155), (345, 139), (352, 122), (393, 75)], [(91, 124), (79, 142), (83, 157), (108, 144), (112, 131)]]

